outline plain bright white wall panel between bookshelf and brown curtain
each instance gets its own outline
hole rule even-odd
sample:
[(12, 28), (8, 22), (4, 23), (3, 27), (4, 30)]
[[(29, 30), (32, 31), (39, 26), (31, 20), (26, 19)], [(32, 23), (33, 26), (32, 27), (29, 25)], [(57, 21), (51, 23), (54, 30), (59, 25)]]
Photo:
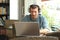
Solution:
[(18, 20), (18, 0), (10, 0), (10, 20)]

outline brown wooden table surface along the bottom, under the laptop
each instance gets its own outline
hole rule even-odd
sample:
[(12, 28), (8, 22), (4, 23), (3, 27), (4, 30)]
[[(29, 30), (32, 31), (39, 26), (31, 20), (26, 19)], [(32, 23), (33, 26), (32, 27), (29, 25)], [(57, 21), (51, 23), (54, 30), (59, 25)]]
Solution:
[(27, 36), (27, 37), (15, 37), (10, 40), (58, 40), (58, 38), (52, 36)]

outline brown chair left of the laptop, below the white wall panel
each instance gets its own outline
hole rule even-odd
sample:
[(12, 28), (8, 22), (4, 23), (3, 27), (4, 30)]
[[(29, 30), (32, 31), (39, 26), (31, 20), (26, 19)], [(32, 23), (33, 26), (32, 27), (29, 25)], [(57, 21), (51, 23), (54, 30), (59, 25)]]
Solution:
[[(12, 38), (15, 36), (15, 31), (14, 31), (14, 22), (18, 21), (18, 20), (5, 20), (5, 28), (7, 31), (7, 35), (8, 37)], [(12, 26), (12, 28), (9, 28), (10, 26)]]

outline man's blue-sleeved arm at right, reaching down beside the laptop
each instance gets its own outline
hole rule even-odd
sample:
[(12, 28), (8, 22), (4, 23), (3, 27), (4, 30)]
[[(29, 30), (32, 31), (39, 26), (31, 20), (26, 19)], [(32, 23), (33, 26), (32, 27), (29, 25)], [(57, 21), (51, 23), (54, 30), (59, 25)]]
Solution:
[(45, 17), (41, 18), (41, 23), (42, 23), (41, 25), (42, 25), (43, 29), (40, 29), (40, 33), (47, 34), (48, 32), (51, 31), (51, 28), (49, 27), (49, 24)]

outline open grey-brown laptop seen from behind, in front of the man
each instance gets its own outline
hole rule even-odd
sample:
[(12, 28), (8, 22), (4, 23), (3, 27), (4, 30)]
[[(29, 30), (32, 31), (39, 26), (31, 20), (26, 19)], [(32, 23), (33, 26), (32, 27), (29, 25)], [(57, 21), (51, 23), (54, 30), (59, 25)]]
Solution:
[(15, 22), (16, 36), (39, 36), (37, 22)]

